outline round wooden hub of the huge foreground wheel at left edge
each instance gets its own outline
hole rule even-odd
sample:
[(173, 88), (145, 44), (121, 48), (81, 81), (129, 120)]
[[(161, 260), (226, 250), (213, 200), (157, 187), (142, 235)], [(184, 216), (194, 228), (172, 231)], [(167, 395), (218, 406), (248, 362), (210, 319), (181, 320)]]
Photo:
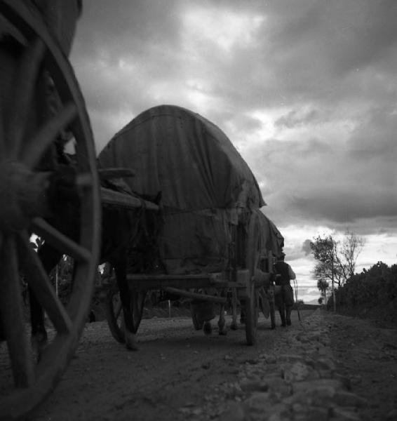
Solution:
[(0, 163), (0, 229), (18, 231), (45, 215), (49, 184), (49, 173), (34, 173), (18, 162)]

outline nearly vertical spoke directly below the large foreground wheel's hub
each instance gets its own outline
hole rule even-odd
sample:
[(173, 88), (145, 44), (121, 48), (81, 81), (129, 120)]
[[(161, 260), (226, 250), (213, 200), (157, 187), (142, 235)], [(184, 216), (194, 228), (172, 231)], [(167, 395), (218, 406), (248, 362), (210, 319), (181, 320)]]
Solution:
[(15, 237), (4, 239), (1, 253), (0, 312), (8, 354), (16, 387), (29, 387), (34, 382), (34, 368), (30, 352), (24, 315), (18, 270)]

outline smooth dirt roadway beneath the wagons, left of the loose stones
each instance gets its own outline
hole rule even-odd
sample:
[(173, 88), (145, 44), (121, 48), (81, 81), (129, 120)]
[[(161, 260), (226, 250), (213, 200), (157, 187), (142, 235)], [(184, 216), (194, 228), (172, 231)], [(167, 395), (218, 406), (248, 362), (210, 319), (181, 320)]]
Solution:
[[(288, 330), (297, 324), (292, 312)], [(106, 322), (88, 324), (60, 384), (29, 421), (186, 420), (187, 412), (217, 393), (217, 385), (234, 382), (241, 364), (274, 347), (287, 330), (271, 330), (261, 316), (257, 345), (248, 347), (243, 328), (220, 336), (213, 326), (213, 335), (206, 336), (191, 319), (144, 319), (140, 350), (128, 352)]]

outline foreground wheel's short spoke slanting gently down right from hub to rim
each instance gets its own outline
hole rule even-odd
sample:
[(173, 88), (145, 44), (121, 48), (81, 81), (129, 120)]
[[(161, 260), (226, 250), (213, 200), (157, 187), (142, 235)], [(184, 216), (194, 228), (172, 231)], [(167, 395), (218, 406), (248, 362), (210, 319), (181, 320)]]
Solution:
[(61, 251), (62, 254), (69, 255), (77, 261), (90, 262), (92, 256), (90, 250), (69, 239), (69, 237), (52, 227), (42, 218), (34, 218), (32, 227), (35, 234), (48, 241), (51, 246)]

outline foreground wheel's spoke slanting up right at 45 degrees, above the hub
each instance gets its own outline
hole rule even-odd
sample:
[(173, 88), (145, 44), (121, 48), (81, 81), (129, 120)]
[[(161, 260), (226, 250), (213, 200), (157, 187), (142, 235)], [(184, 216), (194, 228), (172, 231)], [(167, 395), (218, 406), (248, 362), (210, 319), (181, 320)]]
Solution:
[(77, 115), (77, 107), (72, 102), (65, 105), (61, 111), (46, 124), (41, 127), (38, 133), (29, 140), (29, 143), (22, 150), (22, 162), (29, 168), (33, 168), (39, 163), (41, 156), (51, 145), (55, 136), (58, 135), (62, 128), (71, 123)]

